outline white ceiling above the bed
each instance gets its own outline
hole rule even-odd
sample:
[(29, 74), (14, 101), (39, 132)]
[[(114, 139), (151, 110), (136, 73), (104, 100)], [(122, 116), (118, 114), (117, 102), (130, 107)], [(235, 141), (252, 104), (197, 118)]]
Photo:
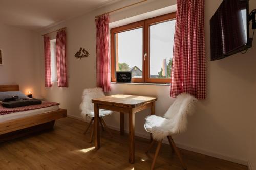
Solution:
[(113, 0), (0, 0), (0, 21), (39, 30), (74, 18)]

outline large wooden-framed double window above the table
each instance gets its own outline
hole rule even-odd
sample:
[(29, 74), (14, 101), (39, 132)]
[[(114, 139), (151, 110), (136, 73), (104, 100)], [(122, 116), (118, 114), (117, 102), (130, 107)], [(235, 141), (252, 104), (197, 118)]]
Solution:
[(132, 82), (170, 83), (176, 13), (111, 29), (111, 81), (131, 71)]

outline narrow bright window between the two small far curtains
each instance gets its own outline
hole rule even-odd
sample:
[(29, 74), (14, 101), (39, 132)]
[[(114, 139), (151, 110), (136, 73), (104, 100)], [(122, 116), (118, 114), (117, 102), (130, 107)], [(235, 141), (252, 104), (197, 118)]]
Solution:
[(52, 82), (57, 81), (57, 61), (56, 61), (56, 39), (50, 40), (51, 49), (51, 77)]

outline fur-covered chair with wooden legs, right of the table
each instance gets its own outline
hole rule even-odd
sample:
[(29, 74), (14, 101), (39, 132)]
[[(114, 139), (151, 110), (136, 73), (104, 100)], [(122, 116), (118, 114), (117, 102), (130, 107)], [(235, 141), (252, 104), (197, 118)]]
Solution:
[(146, 118), (144, 124), (145, 130), (152, 134), (153, 140), (146, 150), (146, 153), (152, 148), (154, 142), (157, 141), (156, 153), (151, 165), (151, 169), (154, 169), (158, 153), (161, 148), (162, 141), (167, 137), (172, 151), (175, 152), (182, 164), (183, 169), (187, 169), (184, 161), (182, 160), (181, 154), (174, 143), (172, 135), (179, 134), (186, 130), (187, 126), (187, 115), (192, 114), (194, 111), (195, 102), (197, 100), (186, 93), (177, 96), (177, 99), (169, 107), (164, 117), (151, 115)]

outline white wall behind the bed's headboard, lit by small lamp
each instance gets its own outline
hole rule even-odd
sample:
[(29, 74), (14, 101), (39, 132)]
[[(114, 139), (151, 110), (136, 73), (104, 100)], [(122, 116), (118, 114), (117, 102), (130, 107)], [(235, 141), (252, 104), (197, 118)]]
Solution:
[(0, 66), (0, 85), (19, 84), (20, 90), (25, 94), (31, 90), (34, 95), (40, 95), (35, 33), (1, 24), (0, 37), (3, 59), (3, 65)]

